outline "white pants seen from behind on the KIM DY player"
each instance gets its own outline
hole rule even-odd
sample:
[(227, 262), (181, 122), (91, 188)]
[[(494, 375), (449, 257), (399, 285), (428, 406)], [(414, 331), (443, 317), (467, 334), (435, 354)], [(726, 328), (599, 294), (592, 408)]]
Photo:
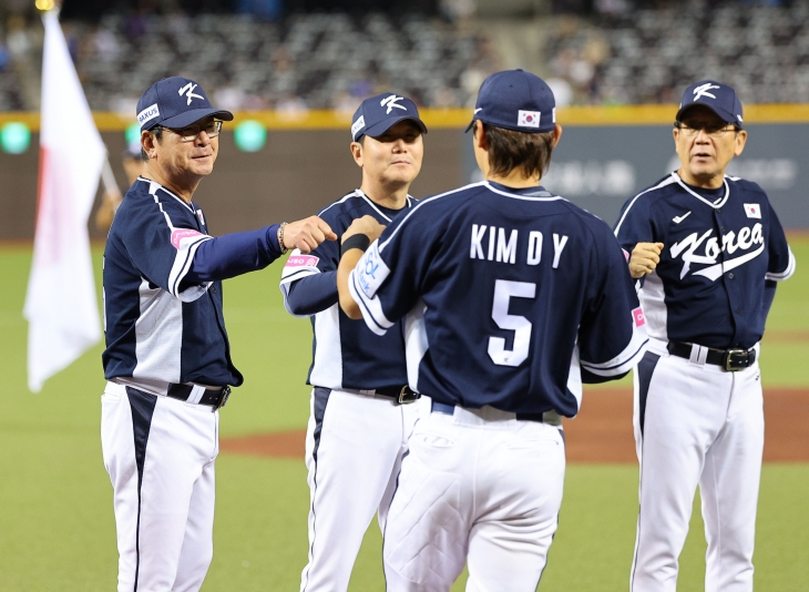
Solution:
[(402, 461), (385, 530), (389, 592), (534, 592), (564, 484), (561, 428), (491, 407), (433, 411)]

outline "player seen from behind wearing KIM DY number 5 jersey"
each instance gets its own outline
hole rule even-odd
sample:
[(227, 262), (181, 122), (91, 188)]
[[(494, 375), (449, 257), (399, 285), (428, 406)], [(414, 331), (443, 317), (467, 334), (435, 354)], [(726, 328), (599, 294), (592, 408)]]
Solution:
[(432, 399), (388, 512), (390, 591), (449, 591), (467, 561), (467, 590), (534, 591), (562, 501), (562, 417), (583, 380), (621, 377), (644, 350), (610, 227), (540, 186), (554, 120), (537, 76), (489, 76), (470, 125), (485, 181), (422, 200), (378, 241), (368, 216), (342, 235), (340, 306), (378, 335), (406, 318), (410, 387)]

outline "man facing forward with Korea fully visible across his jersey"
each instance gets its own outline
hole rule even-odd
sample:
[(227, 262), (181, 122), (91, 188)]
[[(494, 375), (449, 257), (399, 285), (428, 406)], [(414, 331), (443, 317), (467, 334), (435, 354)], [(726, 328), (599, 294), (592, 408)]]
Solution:
[(635, 374), (634, 592), (674, 592), (697, 484), (705, 590), (752, 590), (764, 448), (759, 340), (772, 283), (792, 274), (795, 257), (764, 191), (725, 175), (746, 140), (730, 86), (688, 86), (674, 124), (679, 170), (629, 200), (615, 226), (641, 278), (649, 333)]

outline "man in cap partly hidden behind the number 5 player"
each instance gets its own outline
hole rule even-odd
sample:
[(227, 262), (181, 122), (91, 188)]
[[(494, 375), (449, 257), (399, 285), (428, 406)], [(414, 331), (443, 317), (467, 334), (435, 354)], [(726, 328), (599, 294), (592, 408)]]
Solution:
[[(338, 234), (371, 216), (389, 224), (409, 212), (427, 127), (416, 104), (386, 92), (354, 114), (351, 154), (362, 184), (319, 216)], [(404, 324), (385, 336), (351, 320), (337, 305), (337, 243), (287, 261), (280, 287), (287, 309), (311, 316), (315, 334), (311, 415), (306, 437), (309, 470), (309, 562), (301, 592), (345, 591), (362, 537), (379, 511), (385, 528), (396, 477), (412, 426), (427, 399), (407, 387)]]

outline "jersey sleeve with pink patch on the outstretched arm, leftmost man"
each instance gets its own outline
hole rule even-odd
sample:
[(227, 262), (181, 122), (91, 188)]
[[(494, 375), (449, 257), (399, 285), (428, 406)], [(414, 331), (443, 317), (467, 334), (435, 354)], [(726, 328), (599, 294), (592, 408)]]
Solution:
[(185, 278), (196, 251), (212, 237), (190, 227), (191, 223), (165, 203), (150, 203), (132, 214), (137, 223), (125, 225), (122, 239), (142, 276), (186, 303), (205, 294), (211, 282), (193, 284)]

